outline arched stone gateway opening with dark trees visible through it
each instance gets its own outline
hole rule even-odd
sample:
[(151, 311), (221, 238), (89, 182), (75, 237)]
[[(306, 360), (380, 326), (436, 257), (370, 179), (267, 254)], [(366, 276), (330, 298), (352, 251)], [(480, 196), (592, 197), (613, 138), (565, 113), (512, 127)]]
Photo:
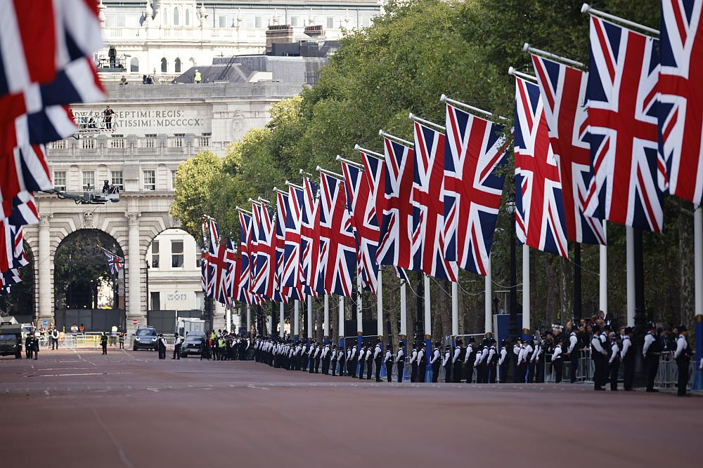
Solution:
[(86, 331), (124, 328), (124, 253), (98, 229), (79, 229), (61, 241), (54, 257), (56, 324)]

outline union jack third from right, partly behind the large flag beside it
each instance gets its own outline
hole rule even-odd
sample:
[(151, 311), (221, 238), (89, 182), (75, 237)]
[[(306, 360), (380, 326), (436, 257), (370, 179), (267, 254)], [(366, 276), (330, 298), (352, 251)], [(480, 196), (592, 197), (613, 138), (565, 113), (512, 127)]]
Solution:
[(532, 65), (561, 175), (567, 238), (605, 246), (602, 221), (583, 215), (583, 203), (593, 178), (585, 105), (588, 74), (537, 55), (532, 55)]

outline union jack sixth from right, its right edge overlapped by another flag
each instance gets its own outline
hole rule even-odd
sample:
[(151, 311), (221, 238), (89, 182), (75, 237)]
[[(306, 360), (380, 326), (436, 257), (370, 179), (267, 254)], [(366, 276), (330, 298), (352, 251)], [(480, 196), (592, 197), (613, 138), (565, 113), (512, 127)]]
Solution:
[(456, 281), (456, 262), (444, 258), (444, 134), (415, 122), (413, 164), (415, 269), (435, 278)]

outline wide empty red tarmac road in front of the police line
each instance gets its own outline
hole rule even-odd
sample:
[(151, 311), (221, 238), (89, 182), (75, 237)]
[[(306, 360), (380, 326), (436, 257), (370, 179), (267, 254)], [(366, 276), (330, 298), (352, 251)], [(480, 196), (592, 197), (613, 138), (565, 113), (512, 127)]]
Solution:
[(42, 351), (0, 359), (0, 423), (2, 467), (681, 468), (701, 466), (703, 399)]

